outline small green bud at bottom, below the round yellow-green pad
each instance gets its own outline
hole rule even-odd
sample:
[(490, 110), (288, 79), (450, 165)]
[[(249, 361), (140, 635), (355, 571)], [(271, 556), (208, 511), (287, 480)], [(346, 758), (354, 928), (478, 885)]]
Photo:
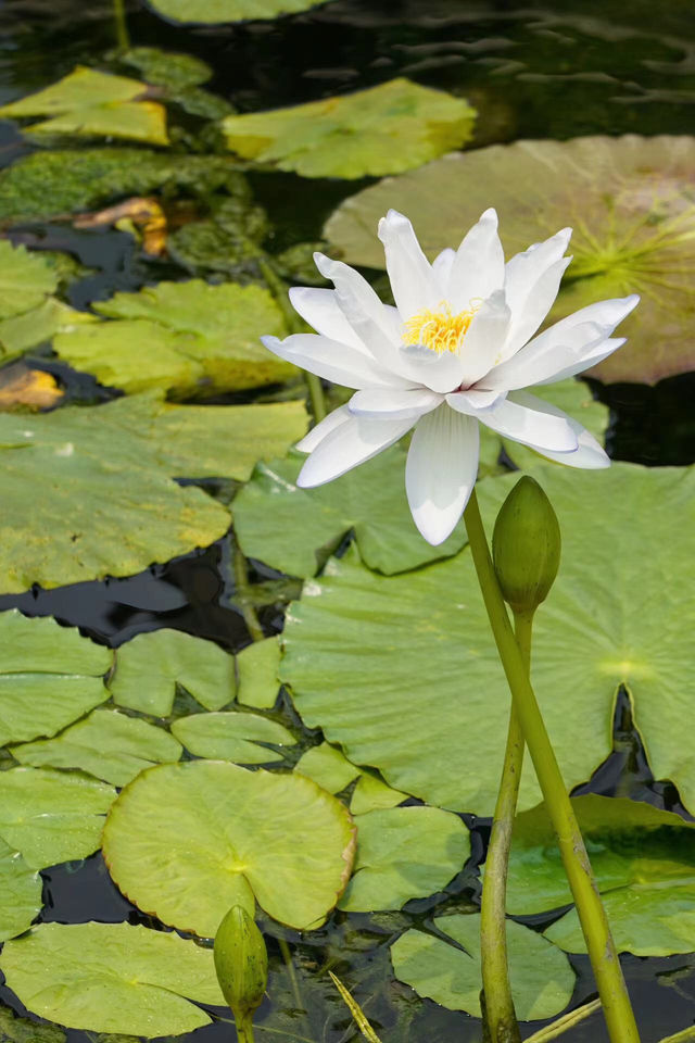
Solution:
[(240, 905), (232, 905), (215, 935), (215, 971), (235, 1021), (247, 1022), (261, 1006), (268, 982), (263, 934)]

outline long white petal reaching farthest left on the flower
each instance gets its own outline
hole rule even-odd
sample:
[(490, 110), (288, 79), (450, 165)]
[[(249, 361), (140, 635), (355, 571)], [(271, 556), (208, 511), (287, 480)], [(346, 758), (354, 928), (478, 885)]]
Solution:
[(410, 386), (401, 377), (382, 369), (374, 359), (356, 348), (318, 334), (292, 334), (285, 340), (262, 337), (261, 340), (268, 351), (280, 359), (346, 388)]

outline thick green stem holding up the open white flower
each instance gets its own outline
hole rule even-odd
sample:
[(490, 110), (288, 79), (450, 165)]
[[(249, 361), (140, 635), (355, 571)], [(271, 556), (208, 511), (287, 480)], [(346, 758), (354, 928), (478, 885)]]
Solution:
[(596, 978), (611, 1043), (639, 1043), (628, 990), (606, 913), (593, 879), (584, 841), (565, 789), (545, 724), (516, 642), (497, 583), (485, 532), (473, 490), (464, 515), (468, 541), (478, 573), (488, 617), (500, 658), (516, 704), (526, 744), (543, 791), (543, 799), (557, 834), (565, 872)]

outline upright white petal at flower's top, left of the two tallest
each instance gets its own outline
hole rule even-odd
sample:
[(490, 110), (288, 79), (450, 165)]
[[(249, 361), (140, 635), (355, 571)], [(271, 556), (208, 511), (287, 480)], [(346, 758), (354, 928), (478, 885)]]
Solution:
[(432, 266), (407, 217), (390, 210), (379, 222), (378, 234), (384, 247), (393, 299), (402, 322), (426, 307), (437, 307), (440, 298)]

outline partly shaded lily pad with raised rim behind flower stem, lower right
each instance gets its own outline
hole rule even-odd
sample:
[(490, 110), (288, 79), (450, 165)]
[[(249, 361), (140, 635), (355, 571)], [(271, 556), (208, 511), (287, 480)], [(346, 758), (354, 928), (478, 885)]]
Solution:
[[(618, 950), (637, 956), (690, 952), (695, 930), (694, 824), (624, 799), (589, 794), (572, 804)], [(544, 806), (523, 812), (515, 822), (509, 913), (541, 913), (571, 901)], [(573, 909), (545, 935), (569, 952), (586, 951)]]

